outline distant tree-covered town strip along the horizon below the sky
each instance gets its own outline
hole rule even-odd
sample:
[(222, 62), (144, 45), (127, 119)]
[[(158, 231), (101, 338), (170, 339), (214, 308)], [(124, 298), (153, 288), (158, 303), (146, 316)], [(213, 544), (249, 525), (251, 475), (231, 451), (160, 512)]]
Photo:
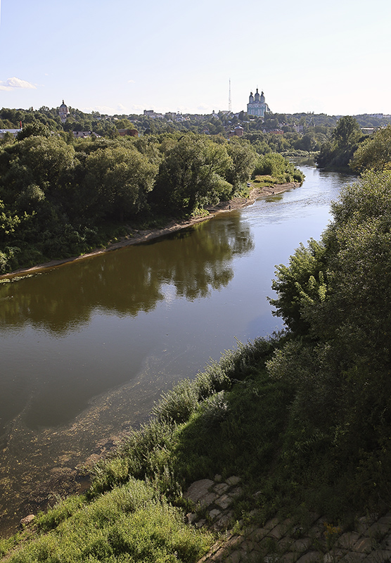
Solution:
[[(243, 135), (259, 154), (283, 153), (285, 156), (300, 156), (316, 153), (332, 140), (333, 129), (342, 118), (340, 115), (324, 113), (268, 113), (264, 118), (240, 113), (219, 112), (210, 115), (102, 115), (99, 112), (84, 113), (77, 108), (68, 108), (70, 114), (61, 122), (58, 108), (42, 106), (0, 110), (0, 128), (23, 127), (31, 122), (41, 122), (53, 132), (90, 131), (101, 137), (120, 137), (120, 129), (136, 129), (140, 134), (163, 134), (193, 132), (196, 134), (229, 134), (240, 125)], [(390, 123), (389, 116), (356, 115), (353, 118), (359, 127), (384, 127)]]

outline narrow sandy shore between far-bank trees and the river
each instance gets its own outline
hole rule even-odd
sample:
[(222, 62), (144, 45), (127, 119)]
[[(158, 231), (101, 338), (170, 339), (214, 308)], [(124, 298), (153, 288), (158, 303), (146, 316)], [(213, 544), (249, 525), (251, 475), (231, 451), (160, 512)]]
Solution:
[(209, 215), (203, 215), (202, 217), (192, 217), (191, 219), (184, 221), (173, 220), (167, 223), (167, 225), (165, 227), (162, 227), (161, 229), (146, 229), (142, 231), (137, 229), (130, 230), (127, 236), (124, 236), (120, 241), (108, 244), (108, 246), (106, 246), (105, 248), (96, 248), (94, 251), (79, 256), (74, 256), (72, 258), (51, 260), (50, 262), (44, 262), (32, 267), (20, 268), (18, 270), (15, 270), (14, 272), (0, 275), (0, 279), (15, 277), (20, 274), (30, 274), (39, 270), (45, 270), (46, 268), (60, 266), (68, 262), (76, 262), (77, 260), (84, 260), (85, 258), (91, 258), (92, 256), (105, 252), (115, 251), (118, 248), (124, 248), (125, 246), (130, 246), (132, 244), (139, 244), (152, 239), (158, 239), (158, 237), (164, 236), (165, 234), (170, 234), (172, 232), (179, 231), (180, 229), (186, 229), (186, 227), (191, 227), (191, 225), (193, 224), (211, 219), (218, 213), (243, 209), (245, 207), (248, 207), (248, 205), (255, 203), (255, 201), (259, 198), (281, 194), (283, 191), (297, 188), (298, 186), (300, 186), (299, 182), (289, 182), (288, 184), (274, 184), (274, 186), (263, 186), (262, 188), (254, 187), (252, 184), (252, 189), (248, 198), (233, 198), (231, 199), (231, 201), (223, 201), (218, 203), (217, 205), (210, 205), (206, 208)]

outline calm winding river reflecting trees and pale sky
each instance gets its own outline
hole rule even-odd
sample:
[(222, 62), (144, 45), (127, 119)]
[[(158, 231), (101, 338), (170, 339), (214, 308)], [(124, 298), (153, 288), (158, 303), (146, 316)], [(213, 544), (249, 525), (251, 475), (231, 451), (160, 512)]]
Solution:
[(0, 531), (144, 422), (162, 391), (281, 329), (275, 265), (319, 239), (352, 182), (300, 168), (302, 186), (241, 211), (0, 283)]

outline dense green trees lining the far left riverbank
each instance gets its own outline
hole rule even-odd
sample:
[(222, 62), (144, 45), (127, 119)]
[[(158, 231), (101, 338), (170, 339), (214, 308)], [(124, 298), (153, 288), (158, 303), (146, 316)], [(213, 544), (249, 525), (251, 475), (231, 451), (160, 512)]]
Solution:
[[(0, 272), (79, 255), (136, 224), (228, 201), (259, 159), (240, 139), (189, 133), (77, 141), (31, 122), (0, 149)], [(282, 182), (303, 178), (282, 157), (273, 170)]]

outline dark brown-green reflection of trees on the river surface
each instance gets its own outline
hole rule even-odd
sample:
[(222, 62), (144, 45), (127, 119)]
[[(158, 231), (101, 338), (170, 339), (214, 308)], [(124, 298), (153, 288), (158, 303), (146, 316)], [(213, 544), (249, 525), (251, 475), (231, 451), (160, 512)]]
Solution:
[(250, 230), (229, 222), (205, 223), (158, 243), (124, 248), (0, 284), (0, 328), (32, 324), (63, 335), (89, 323), (94, 310), (132, 315), (150, 312), (165, 298), (163, 284), (193, 301), (233, 278), (231, 260), (254, 248)]

